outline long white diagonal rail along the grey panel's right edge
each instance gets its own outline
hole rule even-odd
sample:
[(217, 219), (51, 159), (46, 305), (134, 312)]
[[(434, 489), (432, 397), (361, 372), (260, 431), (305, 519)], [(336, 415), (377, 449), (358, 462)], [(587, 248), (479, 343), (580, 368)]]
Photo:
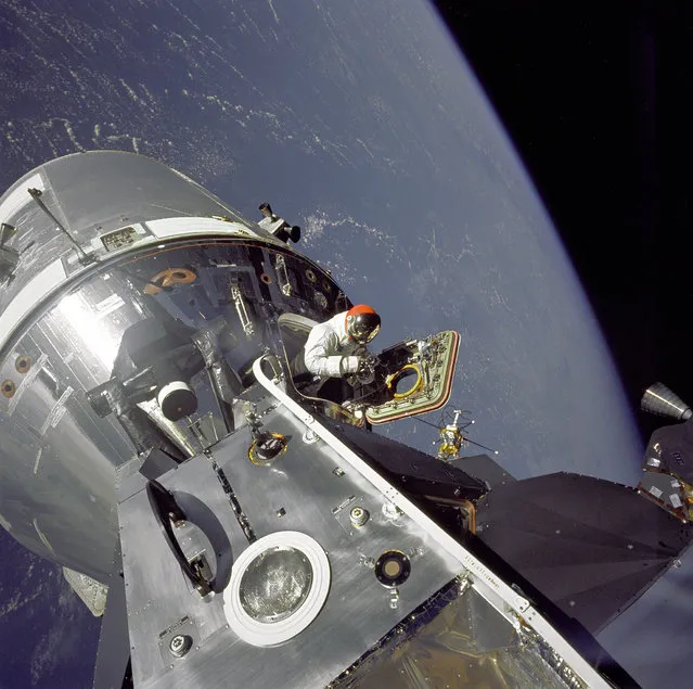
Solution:
[[(432, 538), (434, 538), (453, 558), (457, 558), (472, 574), (474, 589), (480, 594), (504, 617), (509, 617), (506, 608), (514, 610), (543, 639), (550, 643), (566, 663), (577, 673), (590, 688), (608, 689), (604, 678), (556, 631), (551, 624), (535, 610), (527, 599), (517, 595), (503, 579), (496, 576), (480, 560), (475, 558), (464, 546), (458, 543), (444, 528), (438, 526), (429, 516), (420, 510), (411, 500), (371, 469), (356, 452), (345, 445), (336, 435), (324, 428), (315, 417), (308, 413), (298, 403), (282, 391), (274, 381), (262, 372), (262, 360), (256, 359), (253, 373), (257, 382), (278, 399), (298, 420), (306, 424), (316, 435), (324, 441), (339, 457), (345, 459), (364, 479), (370, 481), (388, 500), (394, 502), (405, 514), (410, 516)], [(480, 584), (480, 585), (479, 585)], [(490, 594), (490, 595), (489, 595)], [(500, 599), (500, 600), (499, 600)], [(512, 621), (512, 617), (511, 617)]]

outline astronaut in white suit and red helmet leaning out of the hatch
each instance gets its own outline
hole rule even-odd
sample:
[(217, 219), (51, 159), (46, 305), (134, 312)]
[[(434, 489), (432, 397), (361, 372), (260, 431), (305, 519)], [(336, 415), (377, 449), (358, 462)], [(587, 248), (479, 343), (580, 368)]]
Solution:
[[(317, 377), (321, 397), (344, 397), (338, 392), (345, 392), (342, 381), (363, 367), (369, 356), (365, 345), (380, 329), (381, 317), (365, 304), (357, 304), (348, 311), (333, 316), (310, 331), (303, 357), (299, 354), (294, 362), (294, 372), (298, 375), (308, 373), (313, 382)], [(342, 380), (333, 382), (330, 379)], [(310, 387), (316, 390), (315, 385)]]

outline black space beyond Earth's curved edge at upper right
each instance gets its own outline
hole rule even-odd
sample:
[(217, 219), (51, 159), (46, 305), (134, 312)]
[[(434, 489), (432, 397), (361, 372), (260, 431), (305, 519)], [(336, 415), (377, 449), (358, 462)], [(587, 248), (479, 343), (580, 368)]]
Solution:
[[(693, 3), (435, 0), (580, 276), (633, 409), (693, 405)], [(637, 412), (649, 437), (662, 420)]]

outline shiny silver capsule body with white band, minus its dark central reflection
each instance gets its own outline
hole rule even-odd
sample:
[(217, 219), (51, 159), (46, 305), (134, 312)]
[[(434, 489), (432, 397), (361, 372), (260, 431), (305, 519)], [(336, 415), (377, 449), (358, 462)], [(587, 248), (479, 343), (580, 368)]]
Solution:
[[(93, 261), (79, 263), (29, 196), (29, 182), (43, 190), (47, 207)], [(242, 374), (261, 346), (267, 304), (278, 312), (320, 320), (342, 309), (345, 297), (318, 266), (144, 156), (80, 153), (48, 163), (0, 200), (0, 216), (16, 226), (10, 242), (22, 250), (34, 242), (22, 252), (14, 280), (0, 290), (0, 320), (9, 318), (0, 328), (0, 343), (5, 342), (0, 349), (0, 524), (34, 552), (104, 582), (116, 540), (118, 467), (152, 446), (190, 457), (224, 432), (205, 368), (189, 382), (198, 399), (190, 418), (166, 419), (155, 394), (130, 409), (120, 400), (117, 409), (106, 404), (105, 416), (95, 413), (88, 393), (134, 372), (124, 356), (128, 329), (150, 319), (180, 322), (197, 333), (221, 318), (229, 333), (222, 360)], [(133, 230), (114, 234), (124, 226)], [(194, 237), (181, 240), (185, 232)], [(296, 288), (291, 296), (278, 286), (278, 255)], [(194, 279), (178, 280), (180, 267), (193, 267)], [(31, 280), (49, 269), (53, 286), (47, 291)], [(332, 285), (324, 311), (315, 306), (306, 270)], [(239, 320), (232, 285), (242, 292), (257, 340), (248, 340), (247, 321)], [(236, 346), (240, 342), (245, 349)], [(106, 401), (114, 401), (108, 394)]]

